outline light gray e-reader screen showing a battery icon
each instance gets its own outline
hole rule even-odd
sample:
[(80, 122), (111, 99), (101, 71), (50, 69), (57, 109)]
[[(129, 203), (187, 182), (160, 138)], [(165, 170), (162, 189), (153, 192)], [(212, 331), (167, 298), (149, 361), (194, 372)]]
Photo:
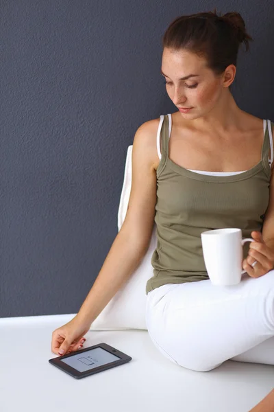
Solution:
[(119, 356), (110, 354), (101, 347), (88, 350), (84, 353), (69, 356), (69, 358), (60, 359), (60, 362), (66, 363), (79, 372), (89, 371), (95, 367), (103, 366), (108, 363), (119, 361)]

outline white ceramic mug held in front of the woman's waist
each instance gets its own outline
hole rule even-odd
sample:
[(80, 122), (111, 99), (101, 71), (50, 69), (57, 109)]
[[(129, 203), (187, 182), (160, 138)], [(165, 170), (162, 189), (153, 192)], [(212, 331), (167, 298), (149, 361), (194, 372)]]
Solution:
[(236, 228), (214, 229), (201, 233), (203, 259), (212, 284), (230, 286), (240, 283), (242, 274), (245, 273), (242, 269), (242, 245), (245, 242), (254, 240), (242, 239), (242, 231)]

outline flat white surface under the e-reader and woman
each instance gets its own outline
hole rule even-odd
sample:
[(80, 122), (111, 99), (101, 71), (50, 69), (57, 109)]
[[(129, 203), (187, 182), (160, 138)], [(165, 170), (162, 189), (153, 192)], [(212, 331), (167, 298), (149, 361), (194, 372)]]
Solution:
[[(147, 331), (89, 331), (132, 361), (77, 380), (48, 360), (53, 330), (73, 315), (0, 319), (0, 395), (5, 412), (247, 412), (274, 387), (274, 367), (227, 361), (195, 372), (171, 363)], [(274, 350), (274, 348), (273, 348)]]

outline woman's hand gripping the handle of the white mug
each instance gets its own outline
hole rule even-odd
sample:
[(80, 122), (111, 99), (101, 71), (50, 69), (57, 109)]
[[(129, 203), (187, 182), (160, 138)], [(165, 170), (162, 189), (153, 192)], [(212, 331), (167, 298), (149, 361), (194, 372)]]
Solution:
[[(260, 231), (251, 232), (251, 238), (255, 242), (249, 244), (249, 254), (242, 261), (242, 267), (250, 277), (260, 277), (265, 275), (274, 267), (274, 251), (266, 246)], [(255, 261), (257, 263), (251, 266)]]

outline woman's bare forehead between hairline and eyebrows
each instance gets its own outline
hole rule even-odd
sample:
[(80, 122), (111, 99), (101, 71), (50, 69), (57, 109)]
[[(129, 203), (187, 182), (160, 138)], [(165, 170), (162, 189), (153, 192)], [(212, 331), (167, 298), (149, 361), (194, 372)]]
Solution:
[(185, 49), (174, 50), (164, 48), (162, 53), (162, 71), (180, 72), (187, 75), (188, 71), (203, 71), (206, 69), (206, 59)]

